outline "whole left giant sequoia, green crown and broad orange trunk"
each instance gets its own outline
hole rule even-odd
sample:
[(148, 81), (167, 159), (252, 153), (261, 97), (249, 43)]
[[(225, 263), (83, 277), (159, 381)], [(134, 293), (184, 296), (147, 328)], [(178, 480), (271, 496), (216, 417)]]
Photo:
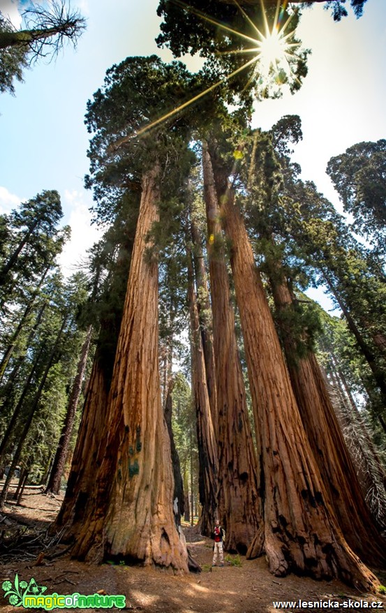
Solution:
[[(77, 556), (87, 559), (101, 560), (108, 553), (176, 570), (187, 570), (187, 554), (173, 517), (170, 441), (161, 406), (158, 265), (154, 252), (145, 256), (158, 205), (172, 184), (169, 175), (161, 188), (165, 163), (175, 156), (183, 175), (190, 154), (183, 122), (181, 130), (175, 120), (142, 138), (137, 132), (156, 109), (159, 113), (162, 105), (184, 96), (187, 80), (179, 64), (165, 66), (156, 57), (128, 58), (107, 72), (103, 90), (88, 106), (87, 122), (95, 132), (90, 184), (96, 194), (101, 193), (99, 186), (114, 191), (134, 184), (141, 195), (104, 417), (105, 448), (97, 477), (87, 484), (84, 520), (74, 547)], [(149, 88), (156, 107), (149, 105)], [(122, 133), (130, 133), (123, 154), (114, 147)], [(105, 204), (98, 201), (98, 207)], [(94, 411), (98, 407), (96, 398)], [(100, 444), (94, 441), (96, 448)]]

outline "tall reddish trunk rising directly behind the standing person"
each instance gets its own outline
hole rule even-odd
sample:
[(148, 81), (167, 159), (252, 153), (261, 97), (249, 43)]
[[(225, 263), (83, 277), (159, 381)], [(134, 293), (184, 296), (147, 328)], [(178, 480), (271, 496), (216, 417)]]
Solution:
[(202, 147), (218, 404), (218, 519), (225, 549), (245, 554), (261, 527), (258, 475), (207, 145)]

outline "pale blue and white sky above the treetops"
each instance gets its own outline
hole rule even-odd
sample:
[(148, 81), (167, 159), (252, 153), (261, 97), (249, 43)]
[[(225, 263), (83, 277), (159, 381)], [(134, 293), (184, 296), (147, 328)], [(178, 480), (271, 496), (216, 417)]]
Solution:
[[(16, 85), (15, 97), (0, 96), (0, 210), (9, 211), (43, 189), (57, 189), (64, 222), (73, 229), (63, 258), (70, 268), (97, 237), (88, 213), (91, 194), (83, 188), (87, 100), (103, 83), (106, 69), (128, 55), (158, 53), (172, 59), (154, 42), (158, 0), (111, 0), (108, 10), (102, 0), (73, 0), (72, 5), (87, 18), (77, 50), (66, 47), (51, 64), (33, 66)], [(0, 0), (0, 9), (14, 18), (16, 6)], [(295, 159), (303, 177), (339, 207), (325, 175), (327, 161), (355, 142), (386, 135), (386, 2), (368, 0), (361, 19), (350, 14), (338, 24), (314, 6), (304, 11), (299, 37), (312, 50), (302, 89), (256, 105), (253, 124), (269, 128), (283, 115), (300, 115), (304, 140)]]

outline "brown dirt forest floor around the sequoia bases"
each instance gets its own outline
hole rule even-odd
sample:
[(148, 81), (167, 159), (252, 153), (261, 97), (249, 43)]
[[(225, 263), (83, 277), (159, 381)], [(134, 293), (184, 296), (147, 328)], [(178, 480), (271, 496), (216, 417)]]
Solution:
[[(61, 498), (47, 496), (41, 489), (27, 489), (20, 506), (12, 501), (7, 503), (0, 514), (0, 586), (7, 579), (14, 582), (17, 573), (20, 581), (29, 582), (34, 577), (39, 586), (47, 586), (47, 594), (124, 594), (126, 610), (144, 613), (266, 613), (311, 608), (299, 607), (299, 600), (319, 603), (312, 608), (324, 611), (337, 608), (362, 611), (366, 605), (360, 605), (361, 599), (369, 607), (379, 601), (386, 609), (385, 596), (355, 592), (338, 581), (317, 582), (295, 575), (274, 577), (264, 558), (246, 560), (243, 556), (238, 559), (225, 554), (225, 566), (212, 568), (212, 541), (191, 526), (184, 528), (186, 541), (202, 573), (188, 577), (139, 566), (109, 563), (90, 566), (71, 560), (68, 554), (55, 559), (49, 552), (52, 545), (60, 551), (61, 545), (50, 541), (47, 528), (59, 511)], [(47, 554), (43, 555), (44, 547)], [(380, 576), (380, 581), (386, 583), (386, 574)], [(1, 587), (0, 593), (1, 613), (25, 611), (23, 607), (9, 605), (2, 598)], [(332, 606), (328, 605), (329, 600)], [(274, 607), (274, 602), (279, 601), (295, 601), (297, 606)]]

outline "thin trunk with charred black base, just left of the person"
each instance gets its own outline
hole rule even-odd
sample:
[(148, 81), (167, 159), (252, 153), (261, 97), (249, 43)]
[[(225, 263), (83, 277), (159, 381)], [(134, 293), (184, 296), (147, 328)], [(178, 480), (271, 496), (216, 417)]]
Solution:
[(198, 318), (197, 299), (193, 284), (191, 250), (186, 246), (188, 261), (188, 304), (191, 319), (192, 395), (195, 405), (198, 441), (198, 483), (202, 515), (200, 531), (210, 536), (216, 519), (218, 460), (216, 438), (211, 420), (211, 407), (205, 376), (205, 360)]

